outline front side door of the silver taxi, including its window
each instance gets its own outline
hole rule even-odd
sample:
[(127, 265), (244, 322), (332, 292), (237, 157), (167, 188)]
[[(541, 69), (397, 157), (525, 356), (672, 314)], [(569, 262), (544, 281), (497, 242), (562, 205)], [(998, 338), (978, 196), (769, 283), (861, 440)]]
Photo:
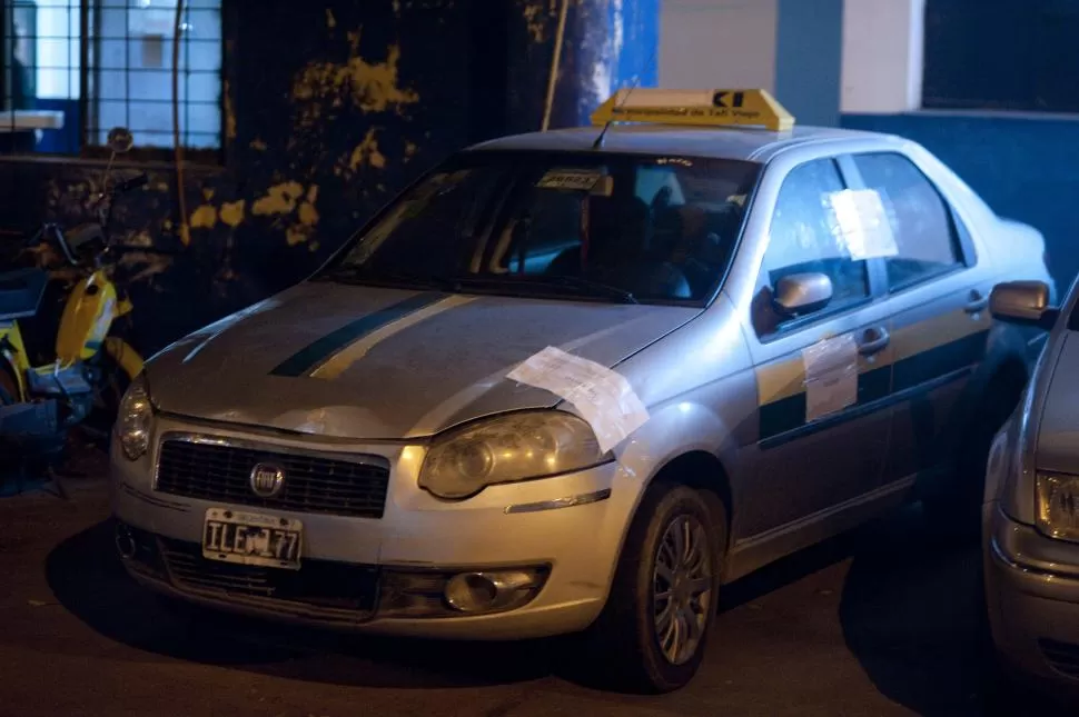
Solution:
[[(820, 519), (880, 485), (891, 327), (880, 272), (852, 255), (837, 220), (847, 189), (838, 163), (823, 158), (793, 167), (776, 196), (748, 336), (760, 432), (738, 516), (743, 539)], [(780, 317), (778, 282), (806, 272), (829, 277), (831, 301)]]

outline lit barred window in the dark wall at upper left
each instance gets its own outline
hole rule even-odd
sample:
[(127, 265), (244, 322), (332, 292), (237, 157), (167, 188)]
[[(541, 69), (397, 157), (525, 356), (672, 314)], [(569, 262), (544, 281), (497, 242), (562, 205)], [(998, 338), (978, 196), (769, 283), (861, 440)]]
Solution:
[[(127, 127), (143, 150), (216, 156), (222, 0), (0, 0), (0, 153), (95, 155)], [(178, 121), (174, 122), (174, 52)]]

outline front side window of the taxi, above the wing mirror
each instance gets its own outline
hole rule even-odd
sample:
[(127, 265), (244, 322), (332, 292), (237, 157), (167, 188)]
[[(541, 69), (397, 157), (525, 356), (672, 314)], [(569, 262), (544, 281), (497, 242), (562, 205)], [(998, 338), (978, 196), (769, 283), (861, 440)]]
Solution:
[[(831, 159), (801, 165), (783, 180), (764, 255), (769, 297), (782, 278), (795, 273), (823, 273), (831, 279), (828, 309), (858, 303), (870, 296), (867, 263), (851, 257), (848, 241), (835, 223), (832, 200), (844, 189)], [(773, 317), (761, 327), (762, 333), (774, 331), (783, 321), (784, 317)]]

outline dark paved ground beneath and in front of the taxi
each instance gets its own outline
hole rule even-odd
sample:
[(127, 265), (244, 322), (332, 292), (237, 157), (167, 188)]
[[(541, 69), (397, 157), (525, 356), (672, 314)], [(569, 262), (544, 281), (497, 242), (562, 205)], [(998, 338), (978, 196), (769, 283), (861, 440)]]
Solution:
[(702, 674), (657, 698), (588, 688), (557, 643), (358, 640), (174, 616), (113, 557), (101, 484), (68, 501), (2, 499), (0, 526), (4, 717), (963, 716), (991, 701), (977, 555), (941, 554), (914, 508), (732, 586)]

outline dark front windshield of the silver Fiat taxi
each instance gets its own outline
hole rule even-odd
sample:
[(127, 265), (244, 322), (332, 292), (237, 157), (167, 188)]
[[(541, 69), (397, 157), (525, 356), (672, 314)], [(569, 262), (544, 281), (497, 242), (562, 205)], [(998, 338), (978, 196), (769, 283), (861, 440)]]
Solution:
[(759, 173), (738, 160), (465, 152), (316, 278), (703, 305), (731, 261)]

